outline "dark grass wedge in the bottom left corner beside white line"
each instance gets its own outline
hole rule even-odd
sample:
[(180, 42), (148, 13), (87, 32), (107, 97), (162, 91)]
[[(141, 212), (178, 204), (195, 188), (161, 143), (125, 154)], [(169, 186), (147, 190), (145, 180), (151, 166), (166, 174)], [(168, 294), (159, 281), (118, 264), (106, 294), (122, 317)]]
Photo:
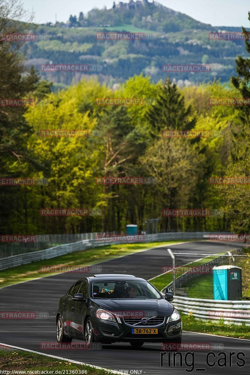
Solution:
[[(78, 370), (76, 374), (88, 375), (106, 375), (107, 372), (100, 369), (91, 368), (90, 366), (77, 365), (70, 361), (59, 360), (42, 354), (30, 353), (22, 350), (0, 350), (0, 369), (5, 371), (54, 371), (63, 370), (61, 374), (67, 374), (67, 370)], [(81, 372), (80, 372), (81, 371)], [(31, 373), (30, 373), (31, 374)], [(46, 374), (46, 373), (45, 373)], [(70, 374), (70, 372), (69, 372)], [(71, 372), (72, 374), (72, 372)]]

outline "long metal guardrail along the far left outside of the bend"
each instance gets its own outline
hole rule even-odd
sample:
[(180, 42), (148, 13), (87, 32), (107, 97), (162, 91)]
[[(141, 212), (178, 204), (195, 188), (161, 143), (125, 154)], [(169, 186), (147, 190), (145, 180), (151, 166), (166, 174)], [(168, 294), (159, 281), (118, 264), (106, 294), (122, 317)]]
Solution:
[[(158, 233), (158, 234), (145, 234), (142, 240), (130, 240), (127, 243), (136, 242), (155, 242), (155, 241), (171, 241), (171, 240), (205, 240), (208, 239), (208, 232), (185, 232), (185, 233)], [(213, 233), (214, 234), (214, 233)], [(133, 236), (131, 236), (133, 237)], [(49, 249), (32, 251), (25, 254), (12, 255), (10, 257), (0, 259), (0, 270), (5, 270), (10, 267), (21, 266), (35, 261), (51, 259), (60, 255), (68, 254), (75, 251), (82, 251), (97, 246), (106, 246), (112, 244), (126, 243), (119, 240), (81, 240), (73, 243), (66, 243), (64, 245), (54, 246)]]

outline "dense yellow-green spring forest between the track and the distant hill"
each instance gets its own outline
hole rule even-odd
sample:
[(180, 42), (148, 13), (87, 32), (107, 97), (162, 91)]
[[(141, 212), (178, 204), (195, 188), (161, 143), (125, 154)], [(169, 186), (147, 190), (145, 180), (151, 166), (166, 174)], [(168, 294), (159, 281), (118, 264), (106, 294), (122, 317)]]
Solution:
[[(14, 18), (14, 17), (13, 17)], [(249, 13), (250, 21), (250, 13)], [(4, 18), (1, 33), (18, 32)], [(243, 29), (244, 32), (246, 30)], [(245, 41), (250, 53), (250, 41)], [(27, 71), (24, 46), (0, 41), (1, 99), (36, 105), (0, 107), (1, 177), (45, 178), (48, 184), (1, 186), (2, 233), (250, 230), (250, 184), (211, 184), (211, 176), (250, 177), (250, 107), (210, 105), (210, 98), (250, 98), (250, 58), (237, 58), (227, 86), (214, 81), (178, 88), (134, 75), (116, 89), (96, 78), (51, 92)], [(144, 98), (141, 105), (98, 105), (98, 98)], [(148, 100), (148, 99), (153, 99)], [(42, 130), (88, 130), (88, 136), (42, 136)], [(164, 130), (211, 132), (164, 137)], [(86, 134), (86, 132), (85, 132)], [(154, 184), (98, 184), (99, 177), (150, 177)], [(100, 209), (101, 216), (41, 216), (41, 208)], [(164, 217), (163, 209), (222, 210), (212, 217)]]

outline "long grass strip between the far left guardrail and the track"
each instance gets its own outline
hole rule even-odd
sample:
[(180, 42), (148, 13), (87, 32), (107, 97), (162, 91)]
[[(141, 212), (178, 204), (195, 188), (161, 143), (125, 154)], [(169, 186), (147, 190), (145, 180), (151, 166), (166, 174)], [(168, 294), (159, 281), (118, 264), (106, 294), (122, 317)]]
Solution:
[[(150, 249), (154, 247), (172, 245), (180, 241), (171, 242), (151, 242), (151, 243), (128, 243), (121, 245), (107, 245), (98, 248), (77, 251), (60, 257), (47, 259), (43, 261), (24, 264), (22, 266), (12, 267), (7, 270), (0, 271), (0, 288), (7, 285), (16, 284), (22, 281), (28, 281), (44, 276), (55, 275), (52, 272), (41, 272), (42, 266), (57, 266), (57, 267), (80, 267), (90, 266), (91, 264), (108, 261), (122, 255), (129, 255), (143, 249)], [(185, 241), (181, 241), (185, 242)], [(187, 240), (186, 242), (190, 242)]]

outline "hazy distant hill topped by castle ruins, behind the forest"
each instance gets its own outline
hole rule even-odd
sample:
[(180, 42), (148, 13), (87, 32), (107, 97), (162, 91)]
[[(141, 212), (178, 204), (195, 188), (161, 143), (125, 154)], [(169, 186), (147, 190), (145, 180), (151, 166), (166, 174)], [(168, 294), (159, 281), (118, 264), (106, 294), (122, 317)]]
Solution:
[[(178, 85), (213, 81), (227, 83), (235, 74), (235, 58), (246, 55), (243, 40), (211, 40), (210, 32), (238, 32), (239, 27), (213, 27), (193, 20), (158, 3), (147, 0), (114, 3), (111, 9), (93, 9), (79, 17), (70, 15), (65, 23), (31, 25), (46, 38), (24, 43), (27, 65), (39, 69), (40, 64), (96, 64), (99, 71), (42, 72), (42, 77), (54, 82), (55, 89), (96, 75), (100, 82), (112, 87), (138, 74), (152, 80), (164, 80), (170, 75)], [(96, 33), (127, 31), (150, 33), (144, 40), (97, 40)], [(163, 65), (209, 64), (206, 73), (162, 71)]]

